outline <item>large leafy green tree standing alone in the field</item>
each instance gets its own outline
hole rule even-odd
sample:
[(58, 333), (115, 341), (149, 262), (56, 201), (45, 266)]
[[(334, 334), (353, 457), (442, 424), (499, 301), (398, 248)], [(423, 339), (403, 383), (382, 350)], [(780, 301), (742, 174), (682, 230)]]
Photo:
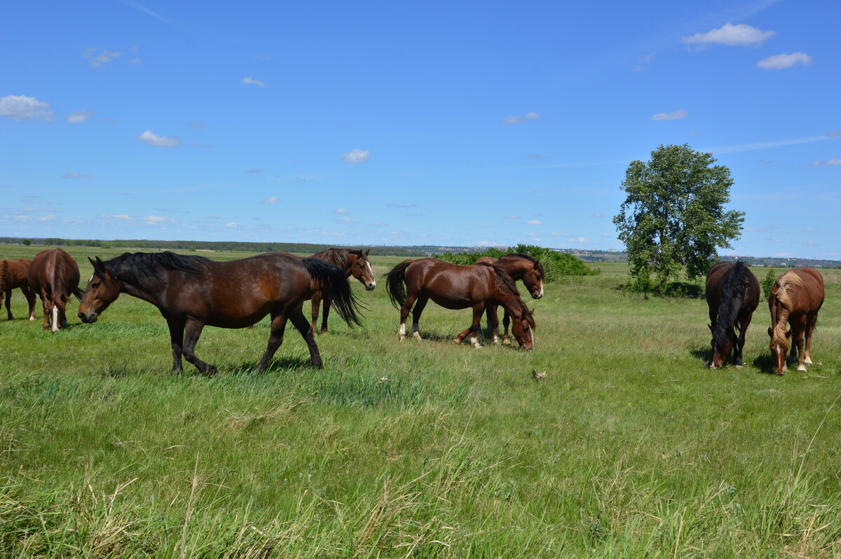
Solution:
[(662, 291), (683, 270), (703, 275), (717, 247), (732, 248), (741, 235), (744, 213), (724, 208), (733, 178), (715, 162), (686, 144), (660, 145), (648, 163), (628, 166), (621, 186), (627, 198), (613, 223), (638, 289)]

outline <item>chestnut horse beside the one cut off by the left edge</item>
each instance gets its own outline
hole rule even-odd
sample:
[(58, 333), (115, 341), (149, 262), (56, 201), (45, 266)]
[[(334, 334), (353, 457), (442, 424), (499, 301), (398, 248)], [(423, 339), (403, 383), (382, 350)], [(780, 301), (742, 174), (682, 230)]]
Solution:
[(79, 289), (79, 266), (61, 249), (41, 250), (32, 259), (27, 274), (29, 289), (38, 293), (44, 305), (44, 330), (57, 332), (67, 324), (67, 300), (71, 295), (82, 298)]

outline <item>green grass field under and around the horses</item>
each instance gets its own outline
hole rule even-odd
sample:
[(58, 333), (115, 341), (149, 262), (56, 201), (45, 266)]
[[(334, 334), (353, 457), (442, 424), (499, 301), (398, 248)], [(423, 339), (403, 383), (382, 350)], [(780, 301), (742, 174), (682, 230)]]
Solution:
[[(119, 250), (70, 252), (84, 282), (86, 256)], [(323, 370), (288, 329), (253, 372), (263, 320), (204, 330), (213, 378), (186, 362), (172, 375), (148, 303), (124, 295), (81, 324), (73, 301), (51, 334), (15, 292), (16, 318), (0, 314), (0, 555), (841, 555), (841, 271), (824, 271), (815, 365), (776, 377), (766, 303), (746, 366), (711, 371), (703, 299), (628, 295), (626, 267), (595, 266), (528, 301), (532, 352), (454, 345), (470, 313), (434, 303), (426, 340), (399, 342), (384, 283), (354, 282), (364, 325), (332, 319)]]

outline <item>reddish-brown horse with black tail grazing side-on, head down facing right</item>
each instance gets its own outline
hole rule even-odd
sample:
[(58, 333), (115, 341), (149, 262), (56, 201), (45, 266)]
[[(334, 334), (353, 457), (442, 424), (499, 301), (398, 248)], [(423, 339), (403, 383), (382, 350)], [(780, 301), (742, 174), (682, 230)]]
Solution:
[(406, 317), (413, 304), (412, 335), (421, 339), (418, 322), (426, 303), (432, 299), (445, 309), (473, 309), (473, 324), (456, 336), (457, 344), (470, 334), (473, 347), (480, 347), (479, 320), (485, 306), (495, 303), (514, 318), (511, 330), (521, 347), (531, 350), (534, 346), (532, 312), (522, 302), (514, 281), (498, 264), (458, 266), (435, 258), (421, 258), (400, 262), (385, 277), (389, 298), (400, 309), (400, 340), (405, 338)]

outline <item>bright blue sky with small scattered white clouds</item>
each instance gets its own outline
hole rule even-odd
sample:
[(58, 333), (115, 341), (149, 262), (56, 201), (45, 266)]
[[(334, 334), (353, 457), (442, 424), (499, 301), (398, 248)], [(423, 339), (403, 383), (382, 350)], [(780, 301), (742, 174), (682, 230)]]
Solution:
[(0, 235), (621, 248), (627, 164), (688, 143), (736, 254), (841, 258), (841, 3), (3, 14)]

